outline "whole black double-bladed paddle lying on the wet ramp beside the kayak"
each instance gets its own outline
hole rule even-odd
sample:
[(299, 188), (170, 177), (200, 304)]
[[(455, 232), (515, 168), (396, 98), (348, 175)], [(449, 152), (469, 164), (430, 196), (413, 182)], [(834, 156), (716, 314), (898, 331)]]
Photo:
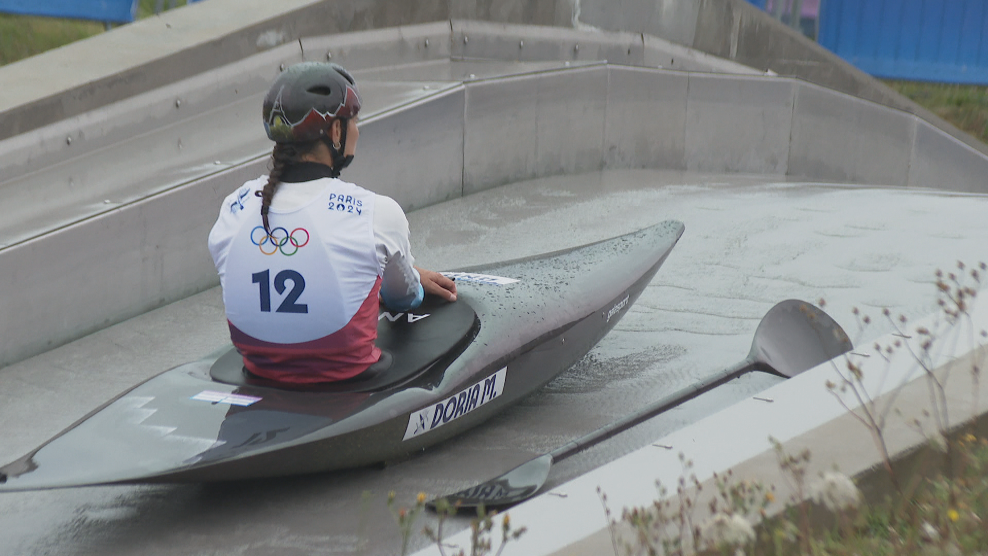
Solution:
[[(762, 318), (755, 330), (748, 357), (737, 365), (529, 460), (500, 477), (442, 498), (460, 510), (475, 509), (480, 505), (497, 508), (518, 504), (538, 492), (548, 478), (549, 469), (554, 462), (606, 440), (639, 422), (675, 408), (745, 373), (765, 371), (791, 378), (850, 351), (852, 347), (844, 329), (822, 310), (799, 300), (783, 301)], [(429, 502), (428, 506), (435, 509), (438, 500), (442, 499)]]

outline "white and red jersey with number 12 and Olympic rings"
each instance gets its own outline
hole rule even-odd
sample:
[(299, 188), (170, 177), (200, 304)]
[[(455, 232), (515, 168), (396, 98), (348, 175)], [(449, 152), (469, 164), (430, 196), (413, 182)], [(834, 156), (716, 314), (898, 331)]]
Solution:
[(379, 353), (378, 291), (394, 309), (421, 303), (408, 221), (388, 197), (320, 178), (279, 185), (269, 234), (265, 183), (230, 194), (209, 233), (234, 344), (262, 376), (285, 380), (286, 368), (297, 382), (355, 375)]

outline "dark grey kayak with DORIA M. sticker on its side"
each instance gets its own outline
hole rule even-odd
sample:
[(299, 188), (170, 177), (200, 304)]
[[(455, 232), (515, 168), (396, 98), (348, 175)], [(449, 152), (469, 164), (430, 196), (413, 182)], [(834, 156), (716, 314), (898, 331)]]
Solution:
[(131, 388), (0, 467), (0, 492), (232, 481), (403, 459), (517, 403), (583, 357), (683, 230), (668, 221), (445, 273), (458, 301), (381, 309), (382, 356), (356, 379), (286, 386), (247, 373), (227, 345)]

